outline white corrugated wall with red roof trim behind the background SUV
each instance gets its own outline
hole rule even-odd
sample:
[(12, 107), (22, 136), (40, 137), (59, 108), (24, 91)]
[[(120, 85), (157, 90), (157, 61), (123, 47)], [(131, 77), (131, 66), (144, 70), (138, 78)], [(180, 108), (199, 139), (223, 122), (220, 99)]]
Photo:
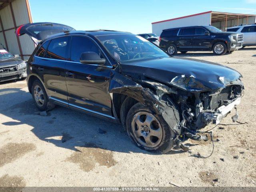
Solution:
[(162, 33), (162, 30), (176, 27), (185, 27), (193, 25), (210, 25), (211, 13), (202, 15), (191, 16), (187, 18), (181, 18), (172, 21), (160, 22), (152, 24), (152, 32), (158, 36)]

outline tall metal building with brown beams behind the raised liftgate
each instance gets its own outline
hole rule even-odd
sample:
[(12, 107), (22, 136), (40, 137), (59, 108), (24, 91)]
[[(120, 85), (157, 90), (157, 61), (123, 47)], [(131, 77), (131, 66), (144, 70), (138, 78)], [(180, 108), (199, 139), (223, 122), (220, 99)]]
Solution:
[(28, 0), (0, 0), (0, 47), (23, 60), (29, 58), (35, 44), (28, 35), (17, 37), (15, 30), (27, 23), (32, 23)]

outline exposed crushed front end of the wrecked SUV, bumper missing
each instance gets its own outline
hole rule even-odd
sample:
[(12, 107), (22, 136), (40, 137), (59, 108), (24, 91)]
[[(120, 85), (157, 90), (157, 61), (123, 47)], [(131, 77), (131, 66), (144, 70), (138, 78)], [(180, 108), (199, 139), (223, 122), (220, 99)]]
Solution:
[[(196, 86), (198, 88), (198, 84)], [(221, 120), (240, 104), (244, 86), (240, 79), (225, 82), (225, 86), (215, 90), (186, 92), (178, 90), (172, 98), (178, 104), (181, 113), (180, 136), (193, 140), (207, 140), (197, 134), (198, 130), (213, 123), (218, 125)], [(238, 113), (232, 117), (235, 122)]]

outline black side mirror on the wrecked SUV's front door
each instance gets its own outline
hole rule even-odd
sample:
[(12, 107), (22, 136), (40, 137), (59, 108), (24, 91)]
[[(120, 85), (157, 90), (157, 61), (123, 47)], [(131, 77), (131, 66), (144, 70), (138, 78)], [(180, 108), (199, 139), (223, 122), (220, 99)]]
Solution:
[(83, 52), (80, 55), (80, 62), (84, 64), (103, 65), (106, 62), (106, 59), (100, 58), (96, 52)]

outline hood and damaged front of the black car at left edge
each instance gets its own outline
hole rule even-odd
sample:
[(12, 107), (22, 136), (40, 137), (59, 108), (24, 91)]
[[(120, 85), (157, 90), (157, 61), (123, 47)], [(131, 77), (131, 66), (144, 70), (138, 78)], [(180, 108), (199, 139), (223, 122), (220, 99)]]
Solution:
[(22, 78), (22, 75), (26, 73), (26, 67), (20, 70), (17, 67), (22, 62), (23, 60), (14, 57), (0, 59), (0, 82)]

